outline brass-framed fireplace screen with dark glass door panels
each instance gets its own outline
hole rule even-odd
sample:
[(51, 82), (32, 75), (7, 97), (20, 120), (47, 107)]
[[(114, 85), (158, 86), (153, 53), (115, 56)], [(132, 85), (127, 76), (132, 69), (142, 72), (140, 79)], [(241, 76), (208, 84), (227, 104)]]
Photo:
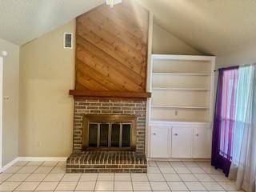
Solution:
[(86, 115), (84, 150), (134, 150), (135, 119), (130, 115)]

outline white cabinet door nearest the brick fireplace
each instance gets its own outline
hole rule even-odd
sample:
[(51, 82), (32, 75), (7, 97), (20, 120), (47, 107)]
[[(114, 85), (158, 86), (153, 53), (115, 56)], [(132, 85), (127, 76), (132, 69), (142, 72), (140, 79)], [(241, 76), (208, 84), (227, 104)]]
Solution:
[(151, 127), (150, 157), (170, 158), (170, 139), (168, 127)]

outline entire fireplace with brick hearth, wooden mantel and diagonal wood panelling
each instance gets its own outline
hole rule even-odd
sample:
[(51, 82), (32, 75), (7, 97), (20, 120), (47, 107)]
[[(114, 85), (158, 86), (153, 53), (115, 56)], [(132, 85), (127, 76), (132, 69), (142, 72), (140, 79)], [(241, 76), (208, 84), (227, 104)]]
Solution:
[(146, 172), (149, 19), (149, 11), (130, 0), (76, 18), (67, 172)]

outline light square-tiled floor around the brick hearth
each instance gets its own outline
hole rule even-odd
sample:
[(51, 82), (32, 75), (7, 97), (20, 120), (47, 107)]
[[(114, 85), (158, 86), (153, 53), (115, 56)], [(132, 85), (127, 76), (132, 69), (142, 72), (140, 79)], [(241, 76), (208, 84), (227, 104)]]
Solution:
[(66, 174), (65, 162), (17, 162), (0, 191), (234, 191), (210, 162), (148, 162), (148, 174)]

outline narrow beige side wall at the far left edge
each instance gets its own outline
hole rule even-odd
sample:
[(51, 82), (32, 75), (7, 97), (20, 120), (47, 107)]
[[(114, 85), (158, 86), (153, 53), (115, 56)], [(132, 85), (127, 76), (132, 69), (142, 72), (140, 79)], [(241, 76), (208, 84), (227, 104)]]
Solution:
[(0, 50), (8, 55), (3, 62), (2, 166), (18, 157), (19, 47), (0, 38)]

